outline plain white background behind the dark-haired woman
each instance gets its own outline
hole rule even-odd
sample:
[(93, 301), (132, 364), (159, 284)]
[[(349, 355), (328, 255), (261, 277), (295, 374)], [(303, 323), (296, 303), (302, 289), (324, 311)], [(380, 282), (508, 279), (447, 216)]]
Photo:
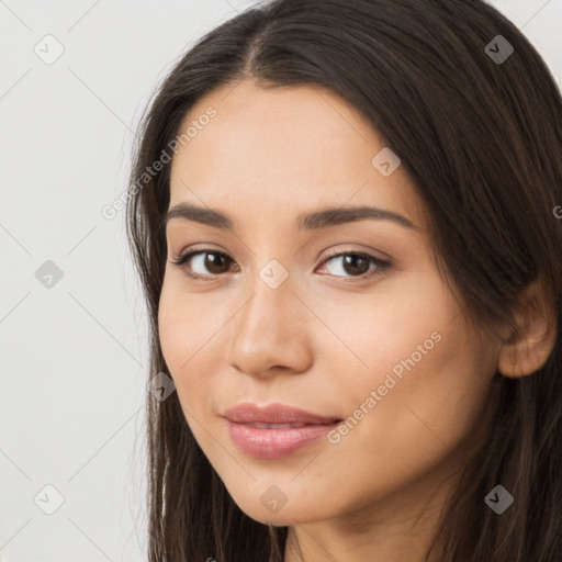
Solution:
[[(146, 318), (123, 212), (101, 207), (125, 189), (157, 82), (251, 3), (0, 0), (3, 562), (145, 559)], [(561, 83), (562, 0), (491, 3)], [(47, 34), (65, 49), (52, 65), (34, 52)], [(63, 271), (50, 289), (47, 260)]]

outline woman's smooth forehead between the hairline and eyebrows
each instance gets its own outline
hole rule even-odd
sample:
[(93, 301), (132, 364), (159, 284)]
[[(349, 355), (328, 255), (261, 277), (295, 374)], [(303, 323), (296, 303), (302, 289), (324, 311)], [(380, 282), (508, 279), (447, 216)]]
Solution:
[(189, 127), (190, 139), (172, 159), (170, 206), (200, 196), (211, 206), (273, 213), (378, 204), (422, 225), (419, 198), (404, 167), (384, 177), (372, 164), (384, 140), (326, 89), (225, 85), (191, 108), (178, 134)]

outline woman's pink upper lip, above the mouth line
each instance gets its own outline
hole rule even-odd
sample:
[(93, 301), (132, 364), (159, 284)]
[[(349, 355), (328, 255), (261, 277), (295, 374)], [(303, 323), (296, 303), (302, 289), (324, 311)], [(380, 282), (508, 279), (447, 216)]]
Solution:
[(227, 409), (223, 417), (238, 424), (334, 424), (341, 420), (338, 417), (321, 416), (284, 404), (258, 406), (250, 402)]

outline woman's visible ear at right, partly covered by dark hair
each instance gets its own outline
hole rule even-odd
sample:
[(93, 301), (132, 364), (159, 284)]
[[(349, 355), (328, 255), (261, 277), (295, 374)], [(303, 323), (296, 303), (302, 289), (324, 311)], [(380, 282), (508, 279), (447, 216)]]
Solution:
[(515, 313), (518, 330), (502, 344), (497, 370), (505, 376), (532, 374), (547, 362), (554, 348), (555, 308), (540, 289), (538, 281), (526, 289)]

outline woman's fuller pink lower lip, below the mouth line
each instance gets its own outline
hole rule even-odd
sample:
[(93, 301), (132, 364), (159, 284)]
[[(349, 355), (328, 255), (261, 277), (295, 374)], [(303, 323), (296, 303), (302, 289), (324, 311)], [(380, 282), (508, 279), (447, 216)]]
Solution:
[(226, 420), (233, 441), (238, 448), (257, 459), (281, 459), (316, 441), (336, 428), (335, 424), (316, 424), (282, 429), (260, 429)]

